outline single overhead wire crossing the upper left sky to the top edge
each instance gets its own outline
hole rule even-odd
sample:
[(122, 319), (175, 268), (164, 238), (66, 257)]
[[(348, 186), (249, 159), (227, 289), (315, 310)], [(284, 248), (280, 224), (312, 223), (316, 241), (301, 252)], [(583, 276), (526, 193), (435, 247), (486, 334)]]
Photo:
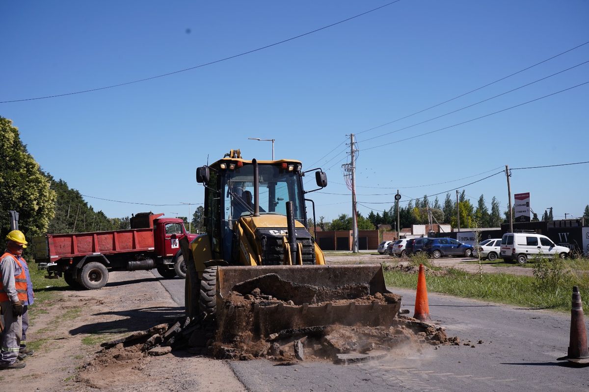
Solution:
[(100, 90), (111, 89), (111, 88), (115, 88), (115, 87), (127, 86), (127, 85), (131, 85), (131, 84), (134, 84), (134, 83), (151, 81), (152, 79), (163, 78), (164, 76), (170, 76), (170, 75), (174, 75), (176, 73), (191, 71), (193, 69), (201, 68), (201, 67), (204, 67), (204, 66), (207, 66), (207, 65), (213, 65), (213, 64), (216, 64), (216, 63), (220, 63), (222, 61), (227, 61), (227, 60), (234, 59), (234, 58), (237, 58), (237, 57), (240, 57), (240, 56), (249, 55), (250, 53), (259, 52), (259, 51), (262, 51), (263, 49), (272, 48), (272, 46), (280, 45), (281, 43), (284, 43), (284, 42), (293, 41), (294, 39), (301, 38), (303, 36), (306, 36), (306, 35), (309, 35), (309, 34), (312, 34), (312, 33), (316, 33), (317, 31), (322, 31), (322, 30), (328, 29), (330, 27), (333, 27), (333, 26), (342, 24), (344, 22), (351, 21), (352, 19), (359, 18), (360, 16), (363, 16), (363, 15), (366, 15), (366, 14), (370, 14), (370, 12), (378, 11), (381, 8), (385, 8), (386, 6), (395, 4), (395, 3), (399, 2), (399, 1), (401, 1), (401, 0), (395, 0), (395, 1), (389, 2), (389, 3), (385, 4), (385, 5), (381, 5), (381, 6), (378, 6), (376, 8), (370, 9), (369, 11), (362, 12), (362, 14), (351, 16), (350, 18), (343, 19), (342, 21), (335, 22), (333, 24), (330, 24), (330, 25), (327, 25), (327, 26), (323, 26), (321, 28), (318, 28), (318, 29), (315, 29), (313, 31), (309, 31), (309, 32), (306, 32), (306, 33), (303, 33), (303, 34), (300, 34), (300, 35), (297, 35), (297, 36), (293, 36), (291, 38), (283, 39), (282, 41), (274, 42), (274, 43), (271, 43), (270, 45), (262, 46), (261, 48), (253, 49), (253, 50), (247, 51), (247, 52), (242, 52), (242, 53), (239, 53), (237, 55), (229, 56), (229, 57), (226, 57), (226, 58), (223, 58), (223, 59), (219, 59), (219, 60), (215, 60), (215, 61), (211, 61), (211, 62), (208, 62), (208, 63), (204, 63), (204, 64), (192, 66), (190, 68), (184, 68), (184, 69), (180, 69), (178, 71), (163, 73), (161, 75), (156, 75), (156, 76), (150, 76), (149, 78), (138, 79), (136, 81), (125, 82), (125, 83), (118, 83), (116, 85), (111, 85), (111, 86), (99, 87), (99, 88), (88, 89), (88, 90), (83, 90), (83, 91), (68, 92), (68, 93), (63, 93), (63, 94), (40, 96), (40, 97), (37, 97), (37, 98), (25, 98), (25, 99), (4, 100), (4, 101), (0, 101), (0, 103), (23, 102), (23, 101), (27, 101), (27, 100), (57, 98), (59, 96), (67, 96), (67, 95), (81, 94), (81, 93), (87, 93), (87, 92), (93, 92), (93, 91), (100, 91)]

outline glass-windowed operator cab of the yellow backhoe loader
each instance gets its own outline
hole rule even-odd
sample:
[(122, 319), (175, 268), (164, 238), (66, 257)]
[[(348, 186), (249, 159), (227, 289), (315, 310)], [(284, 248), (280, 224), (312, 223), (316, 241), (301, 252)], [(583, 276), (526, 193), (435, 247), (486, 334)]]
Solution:
[[(235, 157), (226, 157), (197, 170), (197, 181), (205, 185), (204, 220), (213, 259), (229, 263), (233, 247), (239, 246), (234, 235), (237, 221), (256, 213), (254, 163)], [(286, 216), (286, 202), (290, 201), (294, 219), (307, 225), (301, 168), (297, 160), (257, 161), (259, 222), (268, 222), (267, 227), (272, 227), (272, 217)], [(320, 173), (326, 185), (325, 173)]]

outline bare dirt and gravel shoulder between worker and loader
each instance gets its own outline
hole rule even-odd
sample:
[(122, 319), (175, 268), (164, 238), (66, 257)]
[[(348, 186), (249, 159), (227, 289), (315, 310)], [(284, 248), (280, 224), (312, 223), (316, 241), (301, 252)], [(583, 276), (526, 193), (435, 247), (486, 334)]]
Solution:
[(2, 371), (0, 381), (16, 391), (246, 391), (226, 361), (183, 351), (88, 366), (102, 341), (183, 314), (158, 280), (147, 271), (110, 273), (100, 290), (64, 290), (57, 300), (32, 307), (28, 340), (40, 347), (25, 360), (27, 367)]

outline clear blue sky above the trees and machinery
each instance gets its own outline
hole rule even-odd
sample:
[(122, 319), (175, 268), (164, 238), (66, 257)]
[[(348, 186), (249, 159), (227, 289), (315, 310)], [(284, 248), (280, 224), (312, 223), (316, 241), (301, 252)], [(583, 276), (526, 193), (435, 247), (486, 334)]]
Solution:
[[(2, 2), (0, 101), (83, 91), (191, 68), (387, 3)], [(346, 135), (355, 133), (359, 211), (367, 215), (370, 208), (365, 206), (375, 212), (388, 209), (393, 196), (382, 194), (396, 189), (406, 200), (465, 185), (505, 165), (589, 160), (589, 84), (399, 141), (588, 82), (586, 63), (399, 130), (588, 61), (589, 44), (365, 132), (589, 41), (588, 20), (589, 2), (583, 0), (401, 0), (262, 51), (164, 78), (0, 103), (0, 115), (18, 126), (44, 170), (83, 195), (127, 202), (201, 203), (203, 189), (194, 173), (207, 156), (213, 162), (229, 149), (240, 148), (244, 158), (269, 159), (269, 142), (247, 138), (274, 138), (276, 158), (300, 159), (307, 169), (323, 167), (329, 179), (325, 192), (342, 194), (309, 195), (316, 201), (317, 218), (327, 220), (351, 210), (340, 166), (349, 159)], [(547, 207), (554, 207), (557, 218), (564, 213), (580, 216), (589, 203), (588, 173), (589, 165), (514, 170), (512, 193), (530, 192), (531, 207), (539, 216)], [(442, 182), (448, 183), (422, 186)], [(483, 193), (489, 208), (497, 196), (507, 209), (504, 175), (464, 189), (473, 203)], [(439, 199), (443, 202), (444, 194)], [(86, 200), (110, 217), (144, 210), (188, 215), (186, 206)]]

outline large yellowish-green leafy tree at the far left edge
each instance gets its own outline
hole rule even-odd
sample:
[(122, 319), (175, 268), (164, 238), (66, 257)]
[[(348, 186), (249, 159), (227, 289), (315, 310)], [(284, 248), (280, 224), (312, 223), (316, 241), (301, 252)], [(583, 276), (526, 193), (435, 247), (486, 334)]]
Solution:
[(27, 238), (44, 233), (55, 215), (55, 192), (39, 164), (22, 144), (12, 120), (0, 117), (0, 238), (10, 230), (9, 210), (19, 213)]

